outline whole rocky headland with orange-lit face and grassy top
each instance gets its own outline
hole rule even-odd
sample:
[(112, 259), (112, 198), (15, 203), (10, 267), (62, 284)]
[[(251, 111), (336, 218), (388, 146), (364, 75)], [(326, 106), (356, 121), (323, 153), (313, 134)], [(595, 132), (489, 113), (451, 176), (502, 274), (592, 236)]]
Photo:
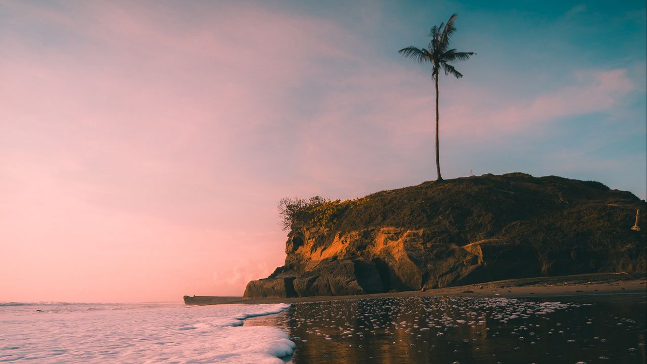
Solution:
[[(489, 280), (647, 271), (645, 201), (527, 174), (426, 182), (295, 221), (285, 266), (245, 297), (358, 295)], [(319, 213), (319, 212), (318, 212)]]

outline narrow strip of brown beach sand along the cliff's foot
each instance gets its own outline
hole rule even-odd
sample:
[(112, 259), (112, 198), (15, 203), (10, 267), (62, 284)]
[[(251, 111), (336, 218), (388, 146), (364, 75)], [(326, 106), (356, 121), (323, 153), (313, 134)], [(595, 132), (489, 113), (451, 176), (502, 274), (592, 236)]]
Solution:
[(494, 282), (470, 284), (450, 288), (436, 288), (426, 291), (403, 291), (375, 293), (356, 296), (320, 296), (276, 299), (243, 299), (227, 303), (296, 303), (339, 301), (345, 299), (395, 298), (395, 297), (556, 297), (586, 296), (626, 293), (647, 293), (645, 273), (592, 273), (559, 277), (536, 277), (525, 279), (497, 280)]

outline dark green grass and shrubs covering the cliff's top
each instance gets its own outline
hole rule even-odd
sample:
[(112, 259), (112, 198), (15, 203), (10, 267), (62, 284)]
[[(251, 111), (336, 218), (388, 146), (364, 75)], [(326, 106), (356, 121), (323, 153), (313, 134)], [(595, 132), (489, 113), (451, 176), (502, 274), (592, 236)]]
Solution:
[[(429, 181), (346, 201), (310, 201), (302, 200), (289, 216), (292, 232), (318, 228), (333, 238), (336, 233), (372, 227), (424, 228), (435, 235), (434, 240), (446, 236), (448, 243), (458, 245), (498, 236), (511, 225), (540, 220), (547, 228), (591, 223), (598, 229), (600, 221), (609, 227), (628, 223), (631, 227), (635, 210), (646, 207), (631, 192), (611, 190), (596, 181), (523, 173)], [(618, 209), (626, 213), (614, 213)], [(643, 228), (645, 221), (643, 214)]]

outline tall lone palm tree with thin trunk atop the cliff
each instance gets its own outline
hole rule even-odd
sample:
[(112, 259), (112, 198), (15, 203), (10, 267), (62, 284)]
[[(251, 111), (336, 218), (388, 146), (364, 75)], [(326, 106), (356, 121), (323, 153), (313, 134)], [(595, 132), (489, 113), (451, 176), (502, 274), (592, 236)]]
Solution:
[(432, 37), (432, 40), (429, 42), (428, 47), (417, 48), (417, 47), (406, 47), (398, 51), (402, 56), (413, 58), (420, 63), (432, 63), (432, 78), (436, 85), (436, 172), (438, 172), (437, 181), (443, 181), (441, 177), (441, 163), (440, 157), (438, 155), (438, 73), (442, 68), (445, 74), (453, 74), (456, 78), (463, 77), (463, 74), (456, 71), (453, 65), (450, 65), (448, 62), (454, 61), (465, 61), (476, 54), (474, 52), (457, 52), (455, 49), (449, 48), (450, 38), (452, 34), (456, 31), (454, 27), (454, 21), (458, 15), (452, 15), (447, 24), (444, 25), (441, 23), (440, 27), (435, 25), (432, 27), (432, 30), (429, 32), (429, 36)]

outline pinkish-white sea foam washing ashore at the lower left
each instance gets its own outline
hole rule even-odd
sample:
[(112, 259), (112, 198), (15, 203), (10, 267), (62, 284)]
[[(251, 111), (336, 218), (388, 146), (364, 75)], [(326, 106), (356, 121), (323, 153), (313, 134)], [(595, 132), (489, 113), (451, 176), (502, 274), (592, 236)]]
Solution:
[(280, 328), (241, 326), (289, 304), (0, 305), (0, 362), (283, 363), (294, 343)]

